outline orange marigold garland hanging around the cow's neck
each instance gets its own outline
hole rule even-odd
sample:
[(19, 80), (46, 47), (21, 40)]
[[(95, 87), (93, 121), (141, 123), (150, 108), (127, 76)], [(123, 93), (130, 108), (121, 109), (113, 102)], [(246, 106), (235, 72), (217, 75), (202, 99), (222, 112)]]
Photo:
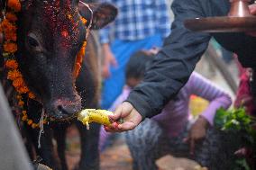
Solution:
[[(3, 57), (5, 59), (5, 68), (8, 69), (7, 79), (13, 81), (14, 88), (17, 92), (16, 99), (18, 100), (18, 105), (22, 109), (22, 121), (26, 122), (28, 125), (32, 126), (32, 128), (40, 128), (40, 123), (35, 123), (31, 119), (28, 118), (27, 111), (24, 110), (24, 102), (23, 95), (27, 94), (30, 99), (35, 99), (35, 95), (29, 90), (28, 86), (25, 84), (23, 80), (23, 75), (19, 71), (18, 63), (14, 57), (14, 53), (17, 51), (17, 27), (15, 22), (17, 21), (17, 16), (15, 13), (19, 13), (21, 11), (22, 5), (19, 0), (6, 0), (5, 7), (3, 9), (4, 18), (0, 20), (0, 33), (4, 34), (4, 49), (3, 49)], [(81, 21), (86, 24), (87, 20), (85, 18), (81, 18)], [(87, 41), (83, 43), (82, 48), (78, 52), (77, 59), (74, 66), (73, 76), (77, 78), (79, 70), (81, 68), (81, 63), (83, 57), (85, 56), (85, 49), (87, 46)], [(46, 123), (46, 119), (42, 121)]]

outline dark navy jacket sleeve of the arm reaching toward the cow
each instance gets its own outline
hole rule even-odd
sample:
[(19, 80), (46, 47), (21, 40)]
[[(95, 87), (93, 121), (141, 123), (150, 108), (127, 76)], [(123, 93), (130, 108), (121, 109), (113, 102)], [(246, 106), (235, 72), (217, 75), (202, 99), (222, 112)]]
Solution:
[(178, 93), (207, 48), (210, 35), (188, 31), (183, 24), (187, 18), (201, 16), (198, 7), (191, 11), (193, 2), (175, 1), (176, 19), (171, 34), (147, 69), (142, 84), (136, 86), (127, 99), (143, 118), (159, 113)]

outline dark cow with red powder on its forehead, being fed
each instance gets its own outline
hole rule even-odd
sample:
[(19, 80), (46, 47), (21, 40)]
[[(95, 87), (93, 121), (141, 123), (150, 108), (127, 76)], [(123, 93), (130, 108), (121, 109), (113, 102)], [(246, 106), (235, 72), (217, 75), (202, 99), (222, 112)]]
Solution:
[[(60, 121), (60, 124), (50, 122), (50, 125), (44, 127), (41, 148), (37, 149), (43, 163), (54, 168), (50, 143), (52, 126), (55, 130), (59, 128), (58, 133), (55, 133), (60, 136), (57, 135), (57, 140), (63, 139), (66, 125), (61, 121), (66, 122), (76, 117), (76, 113), (82, 108), (97, 107), (98, 81), (91, 70), (96, 67), (93, 62), (87, 63), (90, 59), (86, 57), (78, 78), (74, 78), (76, 56), (87, 38), (88, 27), (104, 27), (114, 20), (117, 9), (111, 4), (88, 6), (78, 0), (21, 0), (21, 3), (22, 11), (18, 13), (17, 22), (18, 50), (15, 58), (26, 85), (36, 96), (36, 101), (26, 102), (28, 115), (37, 120), (36, 117), (40, 118), (43, 110), (51, 120)], [(86, 25), (81, 16), (87, 19)], [(91, 130), (87, 131), (80, 123), (78, 130), (82, 141), (78, 168), (99, 169), (99, 125), (94, 124)], [(35, 134), (36, 131), (38, 132), (31, 132)], [(36, 134), (38, 136), (38, 133)]]

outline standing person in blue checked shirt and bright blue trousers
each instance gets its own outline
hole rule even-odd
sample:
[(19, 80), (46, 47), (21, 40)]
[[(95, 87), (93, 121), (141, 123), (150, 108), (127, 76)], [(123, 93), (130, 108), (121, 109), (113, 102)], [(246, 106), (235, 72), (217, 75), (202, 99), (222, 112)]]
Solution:
[(160, 47), (169, 35), (170, 18), (166, 0), (100, 2), (114, 4), (119, 10), (114, 23), (99, 31), (105, 78), (101, 107), (107, 109), (122, 92), (124, 68), (131, 54), (139, 49)]

